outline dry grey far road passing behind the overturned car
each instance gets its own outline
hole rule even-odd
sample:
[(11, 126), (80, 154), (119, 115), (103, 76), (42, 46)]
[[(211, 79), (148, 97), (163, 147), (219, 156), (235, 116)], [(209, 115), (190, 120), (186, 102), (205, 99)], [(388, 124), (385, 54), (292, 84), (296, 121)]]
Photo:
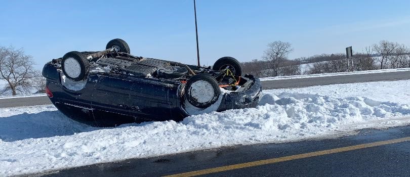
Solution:
[[(410, 71), (401, 72), (385, 72), (385, 73), (368, 73), (354, 75), (339, 75), (327, 77), (311, 77), (299, 79), (283, 79), (269, 80), (262, 82), (262, 89), (282, 89), (305, 87), (313, 85), (329, 85), (337, 83), (355, 83), (355, 82), (370, 82), (382, 80), (404, 80), (410, 79)], [(50, 100), (45, 97), (29, 97), (15, 99), (0, 99), (0, 108), (16, 107), (16, 106), (34, 106), (51, 104)]]

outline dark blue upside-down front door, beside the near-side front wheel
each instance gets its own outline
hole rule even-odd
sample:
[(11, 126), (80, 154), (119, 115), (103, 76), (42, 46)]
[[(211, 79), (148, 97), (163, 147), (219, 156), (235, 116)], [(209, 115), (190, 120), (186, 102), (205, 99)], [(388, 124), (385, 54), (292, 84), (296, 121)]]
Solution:
[(169, 120), (173, 103), (170, 87), (155, 79), (134, 78), (130, 92), (130, 112), (144, 120)]

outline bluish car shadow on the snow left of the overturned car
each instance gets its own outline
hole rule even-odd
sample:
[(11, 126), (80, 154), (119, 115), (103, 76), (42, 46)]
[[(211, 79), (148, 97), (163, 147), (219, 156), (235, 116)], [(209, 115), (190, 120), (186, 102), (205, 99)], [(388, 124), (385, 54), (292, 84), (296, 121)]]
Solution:
[(30, 138), (73, 135), (101, 129), (69, 119), (59, 111), (22, 113), (0, 117), (0, 139), (13, 142)]

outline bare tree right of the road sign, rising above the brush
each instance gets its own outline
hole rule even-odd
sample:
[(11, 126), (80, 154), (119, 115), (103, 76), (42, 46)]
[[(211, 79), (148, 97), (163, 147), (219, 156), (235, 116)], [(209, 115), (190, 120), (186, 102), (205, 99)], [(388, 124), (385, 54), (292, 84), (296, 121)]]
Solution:
[(387, 67), (387, 61), (394, 54), (398, 46), (399, 44), (397, 42), (390, 42), (387, 40), (381, 40), (379, 44), (373, 45), (373, 50), (381, 55), (381, 58), (379, 59), (380, 69), (384, 69)]

